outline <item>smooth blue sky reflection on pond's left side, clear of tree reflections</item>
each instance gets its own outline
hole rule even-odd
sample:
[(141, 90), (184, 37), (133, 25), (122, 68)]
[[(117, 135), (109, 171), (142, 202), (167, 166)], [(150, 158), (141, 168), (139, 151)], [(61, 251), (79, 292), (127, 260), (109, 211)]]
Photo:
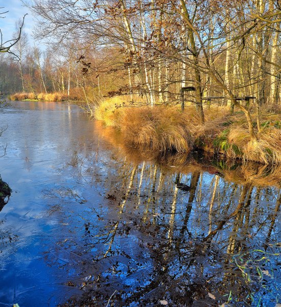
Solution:
[[(1, 245), (0, 305), (18, 302), (17, 298), (26, 306), (36, 299), (47, 305), (54, 290), (65, 289), (60, 290), (58, 277), (42, 260), (42, 252), (48, 250), (44, 244), (52, 242), (59, 221), (42, 215), (53, 201), (43, 199), (41, 191), (60, 184), (62, 178), (54, 170), (67, 160), (73, 146), (93, 138), (92, 127), (78, 108), (58, 103), (12, 103), (1, 109), (0, 118), (3, 127), (8, 125), (1, 138), (8, 147), (0, 173), (13, 190), (0, 213), (5, 221), (1, 233), (7, 233), (8, 242), (9, 236), (18, 236)], [(30, 292), (34, 287), (36, 291)]]

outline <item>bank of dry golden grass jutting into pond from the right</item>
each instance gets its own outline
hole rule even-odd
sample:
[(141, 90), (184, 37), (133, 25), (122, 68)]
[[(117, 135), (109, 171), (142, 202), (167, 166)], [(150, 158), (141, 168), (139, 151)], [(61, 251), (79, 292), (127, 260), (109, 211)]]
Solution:
[[(95, 112), (98, 120), (120, 130), (127, 143), (142, 149), (178, 152), (202, 149), (243, 161), (281, 164), (280, 107), (261, 109), (261, 129), (255, 128), (255, 142), (250, 141), (243, 113), (231, 115), (229, 107), (216, 105), (206, 107), (204, 114), (205, 123), (200, 124), (194, 106), (181, 112), (178, 105), (129, 105), (116, 98), (102, 102)], [(256, 118), (254, 113), (252, 118)]]

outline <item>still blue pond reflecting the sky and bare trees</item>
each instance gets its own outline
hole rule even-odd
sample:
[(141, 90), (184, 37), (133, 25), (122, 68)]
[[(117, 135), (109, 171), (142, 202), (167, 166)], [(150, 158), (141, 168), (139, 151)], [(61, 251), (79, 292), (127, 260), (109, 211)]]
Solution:
[(0, 127), (0, 306), (278, 305), (280, 167), (140, 152), (67, 103)]

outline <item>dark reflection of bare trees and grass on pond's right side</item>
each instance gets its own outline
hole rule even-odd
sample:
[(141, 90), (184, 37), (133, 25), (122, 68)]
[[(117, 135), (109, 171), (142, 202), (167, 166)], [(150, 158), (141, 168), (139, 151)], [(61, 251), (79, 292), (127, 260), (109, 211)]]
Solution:
[[(140, 154), (109, 136), (118, 147), (111, 161), (98, 149), (74, 151), (61, 169), (103, 201), (83, 212), (59, 208), (71, 236), (45, 261), (67, 259), (65, 284), (83, 291), (60, 306), (275, 306), (280, 168)], [(75, 189), (44, 193), (90, 202)]]

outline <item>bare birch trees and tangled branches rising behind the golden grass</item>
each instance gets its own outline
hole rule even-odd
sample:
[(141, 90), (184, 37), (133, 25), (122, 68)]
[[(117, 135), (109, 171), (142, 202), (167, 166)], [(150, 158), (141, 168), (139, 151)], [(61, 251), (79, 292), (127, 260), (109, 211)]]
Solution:
[(16, 67), (22, 81), (10, 80), (13, 90), (69, 95), (74, 88), (92, 89), (92, 101), (97, 93), (132, 100), (136, 94), (154, 105), (177, 103), (180, 89), (192, 86), (185, 97), (202, 123), (205, 102), (237, 106), (253, 139), (249, 109), (237, 98), (255, 97), (257, 111), (280, 101), (279, 0), (32, 0), (26, 5), (40, 17), (37, 38), (51, 42), (40, 52), (27, 48), (21, 35)]

